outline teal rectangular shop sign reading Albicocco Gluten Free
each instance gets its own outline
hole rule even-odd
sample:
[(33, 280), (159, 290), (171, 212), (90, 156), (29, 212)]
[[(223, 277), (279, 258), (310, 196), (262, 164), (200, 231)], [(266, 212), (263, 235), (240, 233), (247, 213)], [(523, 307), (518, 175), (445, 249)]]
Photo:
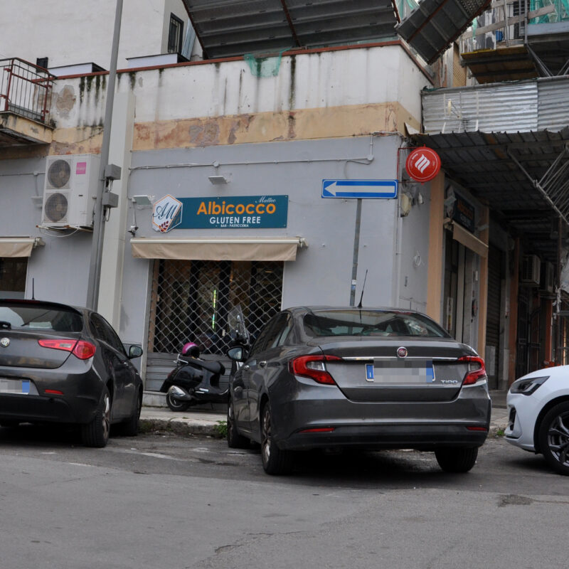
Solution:
[(184, 216), (178, 229), (264, 229), (287, 227), (289, 196), (178, 198)]

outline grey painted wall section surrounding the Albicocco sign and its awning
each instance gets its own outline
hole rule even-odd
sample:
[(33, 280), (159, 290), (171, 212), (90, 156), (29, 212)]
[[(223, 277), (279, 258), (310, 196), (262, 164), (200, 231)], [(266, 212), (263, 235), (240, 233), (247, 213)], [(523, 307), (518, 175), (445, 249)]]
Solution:
[[(285, 263), (283, 307), (298, 304), (341, 304), (350, 300), (356, 201), (321, 198), (322, 179), (395, 179), (400, 138), (374, 137), (373, 160), (368, 163), (371, 138), (319, 141), (271, 142), (201, 149), (172, 149), (135, 152), (129, 179), (129, 196), (166, 193), (175, 197), (255, 196), (287, 194), (287, 228), (279, 229), (173, 229), (164, 238), (221, 236), (302, 236), (309, 247), (298, 251), (297, 260)], [(230, 184), (213, 186), (208, 176), (230, 177)], [(188, 165), (182, 167), (182, 164)], [(191, 166), (190, 166), (191, 165)], [(144, 166), (161, 166), (144, 169)], [(170, 167), (166, 167), (170, 166)], [(413, 297), (413, 308), (426, 302), (428, 248), (428, 186), (425, 203), (415, 206), (400, 231), (402, 298)], [(151, 228), (151, 208), (137, 208), (137, 237), (157, 238)], [(129, 213), (132, 219), (132, 206)], [(397, 200), (365, 200), (361, 216), (356, 302), (368, 270), (364, 304), (389, 306), (399, 300), (395, 285), (397, 266)], [(223, 233), (222, 233), (223, 232)], [(415, 252), (422, 262), (413, 267)], [(147, 299), (151, 263), (133, 259), (130, 245), (125, 252), (121, 333), (137, 340), (147, 325)], [(413, 267), (410, 268), (410, 267)], [(395, 296), (394, 296), (395, 294)]]

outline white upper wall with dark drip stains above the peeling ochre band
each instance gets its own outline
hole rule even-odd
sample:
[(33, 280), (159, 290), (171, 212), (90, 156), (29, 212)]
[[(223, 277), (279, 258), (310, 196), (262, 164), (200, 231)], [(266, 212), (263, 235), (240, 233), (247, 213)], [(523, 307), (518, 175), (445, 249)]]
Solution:
[[(55, 81), (52, 118), (58, 127), (99, 124), (105, 91), (87, 79), (90, 90), (81, 87), (85, 78)], [(243, 60), (132, 71), (119, 74), (117, 91), (134, 92), (137, 122), (396, 101), (420, 121), (420, 90), (426, 84), (404, 50), (386, 46), (284, 57), (279, 74), (270, 78), (253, 76)], [(65, 88), (80, 104), (61, 112), (58, 97)]]

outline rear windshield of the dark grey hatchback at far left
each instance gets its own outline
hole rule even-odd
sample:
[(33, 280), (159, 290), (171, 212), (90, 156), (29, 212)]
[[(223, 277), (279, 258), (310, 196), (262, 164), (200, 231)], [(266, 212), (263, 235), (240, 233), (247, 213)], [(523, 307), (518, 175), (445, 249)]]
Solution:
[(0, 328), (80, 332), (83, 317), (73, 309), (50, 305), (7, 304), (0, 301)]

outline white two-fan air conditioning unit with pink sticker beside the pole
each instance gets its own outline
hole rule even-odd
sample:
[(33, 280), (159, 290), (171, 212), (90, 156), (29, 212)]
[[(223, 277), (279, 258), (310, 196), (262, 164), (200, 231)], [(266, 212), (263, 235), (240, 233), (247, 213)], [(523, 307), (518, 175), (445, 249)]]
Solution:
[(91, 228), (100, 156), (48, 156), (43, 186), (41, 225)]

